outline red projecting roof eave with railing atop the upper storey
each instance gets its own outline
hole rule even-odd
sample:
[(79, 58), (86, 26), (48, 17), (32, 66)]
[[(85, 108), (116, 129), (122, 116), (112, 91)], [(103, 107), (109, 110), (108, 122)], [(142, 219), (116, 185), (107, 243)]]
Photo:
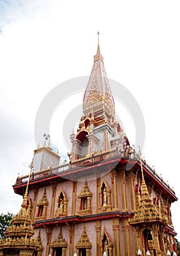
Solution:
[[(104, 154), (102, 154), (104, 155)], [(60, 183), (64, 181), (77, 181), (78, 179), (84, 178), (85, 176), (94, 176), (94, 178), (101, 177), (102, 173), (109, 173), (111, 170), (124, 170), (125, 166), (128, 163), (128, 170), (125, 171), (133, 171), (136, 173), (138, 171), (138, 175), (141, 177), (141, 163), (138, 157), (130, 154), (128, 157), (122, 157), (122, 154), (117, 152), (115, 157), (109, 157), (107, 159), (103, 159), (101, 161), (94, 161), (94, 157), (88, 157), (87, 159), (83, 159), (81, 166), (75, 166), (74, 163), (67, 164), (67, 170), (59, 171), (62, 169), (62, 166), (49, 168), (47, 170), (32, 173), (29, 182), (29, 189), (36, 189), (39, 187), (47, 187), (54, 183)], [(81, 163), (81, 160), (77, 162)], [(65, 165), (63, 165), (64, 167)], [(61, 168), (61, 169), (60, 169)], [(163, 181), (154, 170), (152, 170), (149, 165), (146, 165), (143, 162), (143, 170), (144, 170), (144, 178), (147, 185), (153, 187), (155, 191), (159, 193), (159, 195), (165, 196), (172, 203), (178, 198), (175, 195), (175, 192), (171, 187)], [(38, 177), (40, 176), (40, 177)], [(34, 178), (35, 177), (35, 178)], [(13, 189), (15, 193), (19, 195), (23, 195), (26, 189), (26, 183), (28, 180), (28, 176), (23, 176), (23, 178), (17, 178), (17, 182), (13, 185)]]

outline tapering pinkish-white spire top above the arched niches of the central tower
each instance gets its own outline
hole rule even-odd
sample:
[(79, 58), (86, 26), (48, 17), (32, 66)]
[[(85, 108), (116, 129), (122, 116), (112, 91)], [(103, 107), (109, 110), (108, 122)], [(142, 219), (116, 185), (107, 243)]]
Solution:
[(88, 116), (93, 109), (94, 117), (98, 116), (110, 124), (110, 119), (115, 120), (114, 97), (111, 94), (109, 81), (103, 65), (98, 32), (98, 48), (94, 56), (93, 69), (87, 83), (83, 99), (83, 113)]

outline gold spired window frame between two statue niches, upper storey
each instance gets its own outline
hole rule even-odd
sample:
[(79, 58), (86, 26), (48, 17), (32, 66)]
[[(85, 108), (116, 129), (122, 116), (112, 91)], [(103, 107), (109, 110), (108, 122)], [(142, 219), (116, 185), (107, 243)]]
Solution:
[(93, 196), (93, 193), (90, 192), (87, 181), (85, 181), (85, 185), (82, 188), (81, 193), (78, 195), (79, 211), (77, 213), (80, 216), (88, 215), (92, 213), (92, 208), (91, 208), (92, 196)]

